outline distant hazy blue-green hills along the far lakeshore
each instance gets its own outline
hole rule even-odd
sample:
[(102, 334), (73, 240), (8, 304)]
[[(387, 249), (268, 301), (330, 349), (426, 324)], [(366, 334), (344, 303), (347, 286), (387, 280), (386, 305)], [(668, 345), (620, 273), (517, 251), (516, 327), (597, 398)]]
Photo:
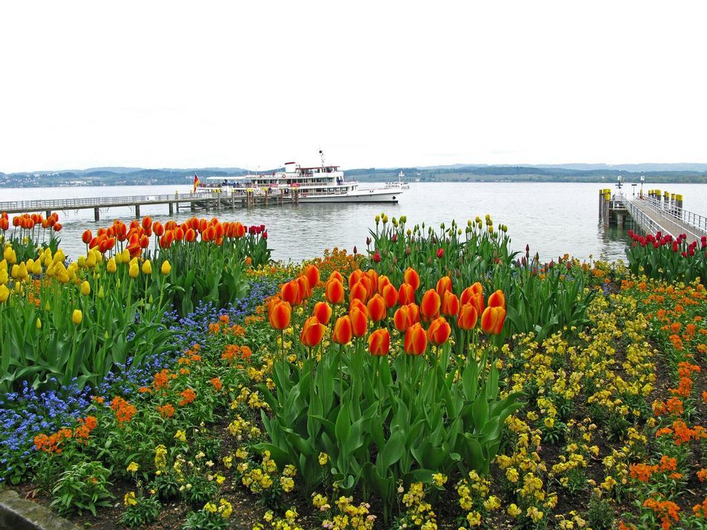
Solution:
[[(346, 170), (347, 177), (363, 182), (385, 182), (405, 172), (407, 180), (421, 182), (638, 182), (641, 175), (650, 182), (707, 183), (707, 164), (539, 164), (539, 165), (474, 165), (455, 164), (426, 167), (385, 167)], [(266, 170), (266, 172), (274, 170)], [(144, 167), (91, 167), (86, 170), (0, 172), (3, 187), (52, 186), (130, 186), (150, 184), (188, 184), (194, 174), (206, 177), (241, 177), (248, 171), (242, 167), (195, 167), (188, 169)]]

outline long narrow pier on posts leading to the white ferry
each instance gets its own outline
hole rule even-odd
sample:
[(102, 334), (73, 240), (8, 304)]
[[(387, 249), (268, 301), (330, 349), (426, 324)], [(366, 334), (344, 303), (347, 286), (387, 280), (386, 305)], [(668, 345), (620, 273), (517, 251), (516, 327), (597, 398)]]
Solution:
[(100, 220), (100, 211), (107, 208), (134, 208), (135, 217), (140, 218), (141, 206), (156, 204), (168, 205), (170, 216), (180, 210), (189, 211), (235, 211), (235, 208), (252, 206), (270, 206), (297, 204), (299, 192), (293, 189), (291, 194), (258, 193), (255, 189), (243, 189), (230, 194), (218, 192), (199, 192), (163, 195), (132, 195), (122, 197), (87, 197), (83, 199), (46, 199), (37, 201), (0, 202), (0, 211), (6, 213), (77, 211), (93, 209), (93, 217)]

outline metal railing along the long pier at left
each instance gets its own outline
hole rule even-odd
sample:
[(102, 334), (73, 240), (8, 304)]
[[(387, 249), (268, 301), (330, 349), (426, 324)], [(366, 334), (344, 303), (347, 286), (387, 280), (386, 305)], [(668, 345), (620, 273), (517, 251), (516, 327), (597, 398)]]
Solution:
[(83, 197), (76, 199), (44, 199), (37, 201), (3, 201), (0, 211), (49, 211), (72, 210), (79, 208), (108, 208), (110, 206), (132, 206), (136, 204), (159, 204), (165, 202), (193, 201), (195, 199), (214, 199), (218, 194), (212, 192), (128, 195), (119, 197)]

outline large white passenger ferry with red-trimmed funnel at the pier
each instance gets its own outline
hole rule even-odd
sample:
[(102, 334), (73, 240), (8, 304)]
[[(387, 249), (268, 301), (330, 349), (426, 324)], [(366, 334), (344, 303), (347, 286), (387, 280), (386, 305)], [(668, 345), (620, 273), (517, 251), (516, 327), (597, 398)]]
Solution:
[(387, 202), (397, 203), (402, 189), (361, 188), (355, 180), (346, 180), (338, 165), (301, 167), (295, 162), (285, 164), (284, 171), (257, 173), (245, 177), (209, 177), (218, 184), (199, 184), (199, 189), (218, 188), (221, 193), (242, 194), (247, 191), (273, 196), (291, 194), (298, 190), (299, 202)]

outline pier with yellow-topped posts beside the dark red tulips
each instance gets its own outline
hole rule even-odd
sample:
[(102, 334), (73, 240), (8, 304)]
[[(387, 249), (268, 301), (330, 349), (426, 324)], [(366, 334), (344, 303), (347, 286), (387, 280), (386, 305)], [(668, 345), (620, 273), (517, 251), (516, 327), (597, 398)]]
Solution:
[(646, 233), (662, 232), (677, 237), (685, 234), (689, 242), (707, 236), (707, 218), (682, 208), (682, 195), (650, 190), (631, 198), (610, 189), (599, 193), (599, 218), (604, 226), (623, 226), (630, 222)]

